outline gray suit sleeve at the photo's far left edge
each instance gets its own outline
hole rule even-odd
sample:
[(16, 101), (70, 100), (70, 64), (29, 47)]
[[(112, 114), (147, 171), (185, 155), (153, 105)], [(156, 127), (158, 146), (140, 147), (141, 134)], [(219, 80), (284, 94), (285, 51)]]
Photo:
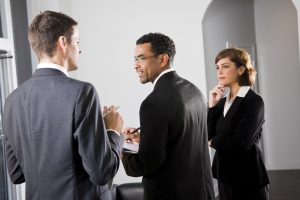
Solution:
[(25, 176), (6, 136), (5, 136), (5, 154), (7, 160), (7, 170), (12, 182), (14, 184), (24, 183)]

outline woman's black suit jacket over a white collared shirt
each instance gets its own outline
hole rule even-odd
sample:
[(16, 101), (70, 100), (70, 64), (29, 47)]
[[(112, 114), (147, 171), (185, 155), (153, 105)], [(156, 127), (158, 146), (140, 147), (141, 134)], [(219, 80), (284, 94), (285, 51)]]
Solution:
[(220, 182), (262, 187), (269, 183), (258, 142), (264, 123), (263, 99), (253, 90), (236, 97), (223, 115), (226, 98), (209, 109), (208, 139), (216, 149), (213, 176)]

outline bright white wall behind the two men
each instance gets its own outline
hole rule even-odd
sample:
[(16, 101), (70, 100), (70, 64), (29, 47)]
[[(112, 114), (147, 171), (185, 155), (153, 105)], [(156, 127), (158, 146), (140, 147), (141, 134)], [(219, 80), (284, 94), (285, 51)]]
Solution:
[[(102, 105), (120, 105), (126, 126), (139, 126), (139, 106), (152, 90), (151, 84), (139, 83), (133, 69), (135, 41), (145, 33), (170, 36), (177, 48), (175, 69), (206, 94), (200, 19), (208, 1), (27, 1), (31, 5), (29, 16), (50, 9), (65, 12), (79, 22), (83, 53), (72, 76), (94, 84)], [(140, 180), (126, 176), (121, 167), (114, 182)]]

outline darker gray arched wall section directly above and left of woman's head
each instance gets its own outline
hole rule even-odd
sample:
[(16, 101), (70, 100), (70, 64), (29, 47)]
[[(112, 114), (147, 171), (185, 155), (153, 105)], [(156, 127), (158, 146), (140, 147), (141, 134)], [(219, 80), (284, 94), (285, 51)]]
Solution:
[(217, 83), (215, 56), (226, 42), (255, 44), (253, 0), (214, 0), (203, 18), (207, 91)]

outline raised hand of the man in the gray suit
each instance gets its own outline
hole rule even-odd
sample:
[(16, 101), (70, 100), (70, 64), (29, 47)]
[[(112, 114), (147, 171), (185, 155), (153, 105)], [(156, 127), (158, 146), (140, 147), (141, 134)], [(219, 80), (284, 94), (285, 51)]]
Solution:
[(114, 130), (118, 133), (122, 132), (123, 129), (123, 118), (120, 115), (119, 112), (117, 112), (117, 109), (119, 106), (104, 106), (103, 108), (103, 120), (106, 126), (106, 129)]

